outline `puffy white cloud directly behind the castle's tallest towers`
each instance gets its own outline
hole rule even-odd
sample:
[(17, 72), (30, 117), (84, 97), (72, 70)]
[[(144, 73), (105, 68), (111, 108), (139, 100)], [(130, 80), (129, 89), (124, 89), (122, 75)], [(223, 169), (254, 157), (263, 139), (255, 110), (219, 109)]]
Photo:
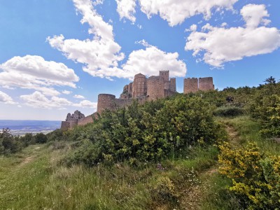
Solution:
[(123, 64), (123, 69), (129, 78), (137, 73), (147, 76), (158, 75), (162, 69), (167, 69), (170, 76), (186, 76), (187, 68), (185, 62), (179, 59), (178, 52), (164, 52), (153, 45), (146, 45), (145, 50), (134, 50)]

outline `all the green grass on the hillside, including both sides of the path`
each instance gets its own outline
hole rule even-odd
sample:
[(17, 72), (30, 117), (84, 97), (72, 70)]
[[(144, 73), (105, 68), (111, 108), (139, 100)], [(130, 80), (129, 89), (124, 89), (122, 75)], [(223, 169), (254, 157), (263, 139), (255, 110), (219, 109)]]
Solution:
[[(256, 141), (263, 153), (279, 155), (279, 144), (262, 139), (260, 125), (247, 116), (216, 119), (237, 133), (239, 146)], [(227, 190), (231, 180), (218, 174), (215, 146), (195, 147), (158, 169), (157, 163), (66, 167), (60, 160), (73, 149), (69, 144), (1, 156), (0, 209), (241, 209)]]

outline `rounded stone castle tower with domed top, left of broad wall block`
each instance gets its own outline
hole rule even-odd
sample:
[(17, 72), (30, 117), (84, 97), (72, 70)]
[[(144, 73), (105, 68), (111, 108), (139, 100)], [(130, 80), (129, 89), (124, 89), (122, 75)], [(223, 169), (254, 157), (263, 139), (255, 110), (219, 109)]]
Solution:
[(132, 85), (132, 97), (142, 97), (147, 94), (147, 79), (142, 73), (138, 73), (134, 76)]

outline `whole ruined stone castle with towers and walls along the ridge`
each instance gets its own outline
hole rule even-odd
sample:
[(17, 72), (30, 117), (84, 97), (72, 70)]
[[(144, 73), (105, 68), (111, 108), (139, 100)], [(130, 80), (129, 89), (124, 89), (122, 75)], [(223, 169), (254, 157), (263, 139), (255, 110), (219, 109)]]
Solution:
[[(183, 92), (197, 92), (198, 90), (214, 90), (213, 78), (185, 78)], [(129, 106), (134, 99), (140, 104), (171, 96), (176, 93), (176, 78), (169, 79), (169, 71), (160, 71), (159, 76), (146, 78), (142, 73), (134, 76), (132, 83), (123, 87), (123, 93), (117, 99), (113, 94), (99, 94), (97, 112), (85, 117), (80, 111), (75, 111), (72, 115), (67, 114), (66, 120), (62, 121), (62, 130), (67, 130), (76, 125), (86, 125), (92, 123), (93, 118), (100, 115), (105, 109), (116, 110), (120, 107)]]

